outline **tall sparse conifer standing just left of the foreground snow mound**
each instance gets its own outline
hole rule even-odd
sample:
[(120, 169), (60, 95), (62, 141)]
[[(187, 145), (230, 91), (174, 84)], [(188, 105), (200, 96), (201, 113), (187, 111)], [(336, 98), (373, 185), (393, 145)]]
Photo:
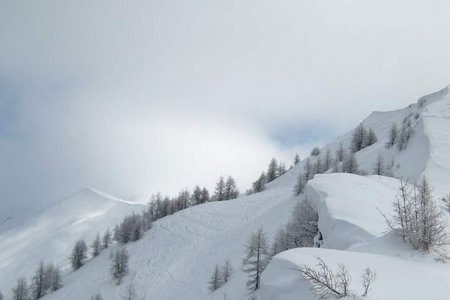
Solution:
[(243, 260), (244, 271), (248, 273), (247, 287), (250, 291), (256, 291), (261, 284), (261, 274), (269, 263), (270, 255), (266, 234), (260, 228), (252, 233), (247, 243), (247, 256)]

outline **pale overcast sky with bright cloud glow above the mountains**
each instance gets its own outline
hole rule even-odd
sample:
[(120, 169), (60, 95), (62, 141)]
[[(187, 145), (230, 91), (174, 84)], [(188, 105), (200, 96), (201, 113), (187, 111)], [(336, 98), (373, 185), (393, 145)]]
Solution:
[[(0, 0), (0, 203), (249, 187), (450, 83), (449, 1)], [(0, 211), (1, 211), (0, 210)]]

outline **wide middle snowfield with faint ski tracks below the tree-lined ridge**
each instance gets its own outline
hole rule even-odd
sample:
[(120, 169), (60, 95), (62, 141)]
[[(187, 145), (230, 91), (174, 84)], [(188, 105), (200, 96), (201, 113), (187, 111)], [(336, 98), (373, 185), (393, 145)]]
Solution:
[(258, 194), (191, 207), (153, 224), (143, 239), (126, 245), (130, 274), (121, 286), (109, 273), (109, 249), (65, 278), (65, 286), (46, 299), (121, 299), (133, 280), (139, 299), (212, 299), (208, 281), (215, 264), (227, 257), (235, 268), (232, 280), (215, 293), (222, 299), (246, 299), (246, 277), (241, 271), (249, 235), (263, 226), (272, 236), (289, 218), (296, 199), (295, 170), (275, 180)]

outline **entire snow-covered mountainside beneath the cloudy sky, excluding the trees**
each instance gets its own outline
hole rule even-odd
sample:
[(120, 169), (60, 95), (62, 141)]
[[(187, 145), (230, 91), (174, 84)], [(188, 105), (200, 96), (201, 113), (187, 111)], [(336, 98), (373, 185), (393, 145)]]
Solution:
[[(385, 143), (392, 124), (400, 126), (405, 119), (413, 128), (408, 147), (402, 151), (397, 147), (387, 149)], [(392, 172), (398, 178), (415, 183), (426, 175), (434, 187), (435, 199), (450, 192), (447, 88), (422, 97), (405, 109), (374, 112), (362, 124), (376, 133), (378, 142), (356, 153), (360, 170), (371, 174), (380, 154), (386, 162), (392, 161)], [(348, 148), (351, 137), (352, 132), (339, 137), (321, 149), (321, 153), (328, 149), (334, 154), (341, 144)], [(311, 161), (316, 159), (310, 157)], [(130, 281), (139, 299), (206, 300), (224, 299), (224, 295), (231, 300), (248, 299), (247, 274), (241, 269), (245, 243), (261, 226), (272, 238), (288, 222), (299, 200), (293, 190), (305, 164), (306, 159), (267, 184), (263, 192), (194, 206), (156, 221), (141, 240), (124, 246), (130, 254), (130, 272), (124, 284), (116, 285), (109, 274), (109, 257), (118, 247), (115, 245), (80, 270), (68, 272), (64, 287), (45, 299), (90, 299), (96, 293), (104, 299), (122, 299)], [(315, 299), (307, 282), (292, 268), (303, 264), (313, 266), (316, 257), (331, 265), (344, 263), (353, 277), (352, 288), (356, 292), (360, 289), (361, 270), (366, 266), (374, 268), (378, 277), (370, 299), (445, 299), (450, 293), (447, 284), (450, 267), (386, 234), (387, 226), (378, 209), (391, 212), (399, 185), (398, 179), (382, 176), (316, 175), (308, 182), (306, 193), (319, 214), (322, 248), (293, 249), (277, 255), (264, 272), (259, 300)], [(8, 250), (0, 254), (0, 273), (29, 276), (37, 262), (46, 261), (47, 257), (47, 250), (34, 249), (44, 249), (48, 243), (58, 249), (51, 253), (58, 259), (50, 261), (67, 266), (70, 248), (79, 237), (89, 241), (97, 231), (141, 208), (93, 190), (84, 190), (76, 198), (80, 200), (75, 207), (68, 205), (73, 203), (70, 199), (74, 198), (70, 197), (42, 212), (30, 224), (4, 232), (0, 246)], [(17, 243), (21, 246), (15, 247)], [(64, 247), (59, 248), (61, 245)], [(231, 280), (210, 293), (207, 282), (214, 265), (222, 264), (227, 257), (234, 266)], [(413, 275), (401, 277), (397, 270)], [(5, 288), (11, 287), (17, 277), (1, 274), (0, 288), (7, 291)]]

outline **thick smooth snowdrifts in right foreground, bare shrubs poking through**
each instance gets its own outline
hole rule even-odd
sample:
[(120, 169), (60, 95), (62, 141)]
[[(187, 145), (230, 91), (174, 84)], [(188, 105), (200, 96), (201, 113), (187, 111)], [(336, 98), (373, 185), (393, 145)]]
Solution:
[(319, 213), (322, 248), (293, 249), (276, 256), (264, 272), (260, 299), (317, 298), (296, 269), (313, 267), (318, 257), (334, 269), (344, 264), (357, 294), (362, 293), (363, 270), (375, 270), (370, 299), (447, 299), (450, 266), (386, 234), (385, 220), (377, 209), (392, 213), (399, 185), (397, 179), (381, 176), (316, 176), (308, 185), (308, 195)]

